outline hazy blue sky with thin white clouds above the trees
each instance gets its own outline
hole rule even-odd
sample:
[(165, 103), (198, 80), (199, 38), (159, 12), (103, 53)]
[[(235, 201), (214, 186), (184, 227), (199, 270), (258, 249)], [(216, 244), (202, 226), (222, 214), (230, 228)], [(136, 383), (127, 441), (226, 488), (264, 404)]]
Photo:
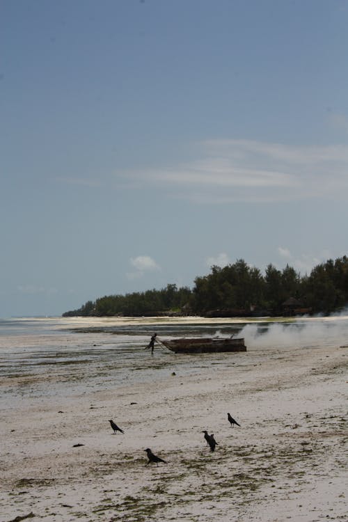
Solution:
[(0, 0), (0, 317), (348, 254), (348, 0)]

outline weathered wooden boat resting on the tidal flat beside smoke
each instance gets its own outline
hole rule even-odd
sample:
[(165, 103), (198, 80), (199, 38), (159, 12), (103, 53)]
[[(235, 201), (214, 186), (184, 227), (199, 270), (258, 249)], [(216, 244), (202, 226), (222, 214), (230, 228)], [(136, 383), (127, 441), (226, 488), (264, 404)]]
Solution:
[(184, 337), (180, 339), (161, 340), (162, 345), (175, 354), (209, 354), (219, 351), (246, 351), (244, 338), (221, 337)]

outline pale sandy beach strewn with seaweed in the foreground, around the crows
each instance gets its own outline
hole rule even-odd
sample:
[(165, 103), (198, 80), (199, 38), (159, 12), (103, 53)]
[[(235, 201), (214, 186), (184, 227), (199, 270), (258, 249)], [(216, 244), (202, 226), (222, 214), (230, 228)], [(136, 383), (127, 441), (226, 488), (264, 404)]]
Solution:
[[(0, 521), (347, 522), (347, 345), (158, 348), (141, 355), (146, 379), (66, 397), (26, 397), (35, 382), (12, 376), (23, 394), (1, 411)], [(147, 465), (145, 448), (167, 464)]]

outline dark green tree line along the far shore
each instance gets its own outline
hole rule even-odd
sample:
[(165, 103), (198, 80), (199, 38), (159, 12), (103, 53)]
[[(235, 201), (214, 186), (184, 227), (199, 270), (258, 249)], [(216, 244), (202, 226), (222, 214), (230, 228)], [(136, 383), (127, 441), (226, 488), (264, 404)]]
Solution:
[(279, 270), (269, 264), (264, 271), (243, 259), (226, 267), (213, 266), (198, 276), (193, 288), (168, 284), (161, 290), (104, 296), (87, 301), (72, 316), (201, 315), (233, 317), (329, 313), (348, 304), (348, 258), (318, 264), (301, 276), (289, 264)]

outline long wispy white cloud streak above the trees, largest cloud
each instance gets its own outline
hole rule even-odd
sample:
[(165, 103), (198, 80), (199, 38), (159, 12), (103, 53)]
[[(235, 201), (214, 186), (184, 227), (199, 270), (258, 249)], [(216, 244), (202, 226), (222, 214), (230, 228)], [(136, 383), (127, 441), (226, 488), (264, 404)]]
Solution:
[(200, 159), (172, 168), (121, 173), (170, 189), (197, 203), (346, 198), (348, 146), (294, 146), (251, 140), (209, 140)]

